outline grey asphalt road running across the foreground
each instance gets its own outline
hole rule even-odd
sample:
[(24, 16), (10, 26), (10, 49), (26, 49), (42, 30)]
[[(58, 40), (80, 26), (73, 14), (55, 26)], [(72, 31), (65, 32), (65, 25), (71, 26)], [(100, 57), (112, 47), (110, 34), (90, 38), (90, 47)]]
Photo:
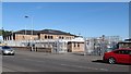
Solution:
[(129, 65), (108, 64), (102, 57), (16, 50), (2, 57), (3, 72), (129, 72)]

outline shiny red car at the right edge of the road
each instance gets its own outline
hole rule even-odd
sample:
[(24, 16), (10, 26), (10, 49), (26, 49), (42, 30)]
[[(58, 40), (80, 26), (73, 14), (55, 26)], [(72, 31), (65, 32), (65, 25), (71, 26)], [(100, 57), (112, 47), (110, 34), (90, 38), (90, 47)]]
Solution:
[(131, 64), (131, 49), (122, 48), (110, 52), (105, 52), (103, 60), (110, 63), (128, 63)]

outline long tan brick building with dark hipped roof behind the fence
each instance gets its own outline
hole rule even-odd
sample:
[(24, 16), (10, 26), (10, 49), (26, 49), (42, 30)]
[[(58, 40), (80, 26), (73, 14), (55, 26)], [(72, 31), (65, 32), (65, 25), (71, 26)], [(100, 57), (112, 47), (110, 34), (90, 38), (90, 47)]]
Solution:
[(70, 33), (44, 29), (44, 30), (17, 30), (3, 36), (3, 40), (45, 40), (45, 39), (73, 39), (75, 35)]

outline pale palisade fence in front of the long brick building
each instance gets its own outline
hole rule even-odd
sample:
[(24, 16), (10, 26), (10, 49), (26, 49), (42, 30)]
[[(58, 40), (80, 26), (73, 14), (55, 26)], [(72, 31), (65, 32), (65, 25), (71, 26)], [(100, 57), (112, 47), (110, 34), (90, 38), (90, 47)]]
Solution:
[(4, 44), (11, 47), (33, 47), (33, 48), (50, 48), (51, 52), (67, 52), (67, 40), (5, 40)]

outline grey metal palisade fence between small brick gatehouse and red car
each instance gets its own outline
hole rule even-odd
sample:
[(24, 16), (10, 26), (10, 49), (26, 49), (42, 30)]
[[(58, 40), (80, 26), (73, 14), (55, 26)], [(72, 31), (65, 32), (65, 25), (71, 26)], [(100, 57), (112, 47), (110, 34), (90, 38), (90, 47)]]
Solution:
[(122, 38), (119, 36), (106, 36), (105, 38), (90, 37), (85, 39), (85, 52), (93, 55), (103, 55), (106, 49), (116, 49), (117, 44), (121, 40)]

